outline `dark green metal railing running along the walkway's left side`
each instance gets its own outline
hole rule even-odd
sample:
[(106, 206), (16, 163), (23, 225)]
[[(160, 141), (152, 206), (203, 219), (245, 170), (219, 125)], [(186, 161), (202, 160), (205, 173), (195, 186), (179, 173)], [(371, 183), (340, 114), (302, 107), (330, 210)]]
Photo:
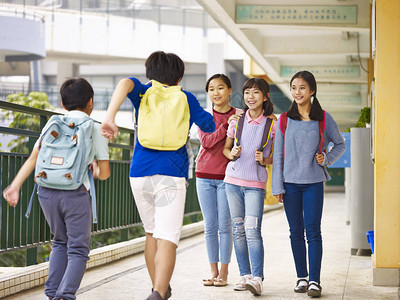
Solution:
[[(40, 116), (41, 128), (48, 118), (56, 112), (22, 106), (6, 101), (0, 101), (0, 109), (14, 112), (22, 112)], [(129, 227), (140, 224), (138, 210), (136, 208), (129, 183), (130, 156), (134, 144), (134, 131), (120, 128), (120, 132), (128, 133), (129, 145), (109, 143), (110, 148), (122, 149), (122, 160), (112, 160), (111, 176), (105, 181), (95, 181), (97, 194), (98, 223), (92, 225), (92, 234), (111, 230), (126, 230)], [(21, 130), (9, 127), (0, 127), (0, 134), (26, 136), (29, 138), (29, 148), (39, 137), (39, 132)], [(28, 154), (0, 152), (0, 253), (7, 251), (37, 248), (39, 245), (50, 243), (51, 234), (41, 211), (37, 195), (34, 200), (31, 216), (25, 218), (26, 208), (33, 190), (33, 175), (30, 176), (21, 188), (20, 201), (13, 208), (4, 200), (2, 191), (11, 183), (16, 173), (28, 158)], [(185, 215), (200, 212), (198, 204), (195, 179), (189, 181), (187, 191)], [(127, 231), (126, 231), (127, 233)], [(121, 234), (122, 235), (122, 234)], [(125, 235), (127, 238), (127, 234)], [(35, 253), (33, 253), (35, 256)], [(28, 265), (34, 264), (34, 258)]]

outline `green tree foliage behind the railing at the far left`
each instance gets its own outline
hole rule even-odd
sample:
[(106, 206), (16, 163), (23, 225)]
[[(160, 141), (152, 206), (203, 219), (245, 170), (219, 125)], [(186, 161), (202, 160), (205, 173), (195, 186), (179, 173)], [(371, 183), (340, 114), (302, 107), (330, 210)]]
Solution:
[[(11, 94), (7, 96), (7, 101), (39, 109), (54, 110), (54, 107), (49, 103), (46, 93), (43, 92), (30, 92), (29, 95), (25, 95), (24, 93)], [(3, 110), (3, 112), (4, 114), (1, 116), (2, 120), (11, 120), (9, 127), (40, 131), (40, 116), (9, 110)], [(7, 146), (11, 148), (11, 152), (29, 153), (28, 139), (23, 136), (15, 138)]]

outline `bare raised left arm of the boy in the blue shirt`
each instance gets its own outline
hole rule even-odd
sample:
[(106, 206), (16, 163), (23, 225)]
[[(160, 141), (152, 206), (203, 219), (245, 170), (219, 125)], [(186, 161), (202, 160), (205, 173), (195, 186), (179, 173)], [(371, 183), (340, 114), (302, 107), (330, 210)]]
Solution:
[(134, 87), (135, 84), (133, 81), (125, 78), (118, 83), (114, 90), (110, 104), (108, 105), (106, 116), (101, 123), (101, 134), (110, 141), (118, 136), (118, 127), (115, 124), (115, 115), (117, 114), (122, 102), (124, 102), (126, 96), (132, 92)]

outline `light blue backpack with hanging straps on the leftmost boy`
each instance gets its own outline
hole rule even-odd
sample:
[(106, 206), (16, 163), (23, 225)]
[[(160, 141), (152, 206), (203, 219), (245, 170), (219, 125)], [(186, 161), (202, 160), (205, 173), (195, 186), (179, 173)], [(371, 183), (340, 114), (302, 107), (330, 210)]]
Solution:
[(93, 175), (89, 169), (92, 154), (93, 120), (53, 115), (39, 140), (39, 154), (35, 167), (35, 186), (26, 217), (29, 218), (37, 186), (51, 189), (75, 190), (86, 174), (89, 175), (93, 222), (97, 223), (96, 195)]

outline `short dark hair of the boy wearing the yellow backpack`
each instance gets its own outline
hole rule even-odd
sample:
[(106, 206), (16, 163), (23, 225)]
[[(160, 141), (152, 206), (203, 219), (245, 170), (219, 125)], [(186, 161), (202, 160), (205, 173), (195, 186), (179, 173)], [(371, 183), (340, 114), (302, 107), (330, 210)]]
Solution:
[(185, 64), (176, 54), (156, 51), (145, 62), (146, 77), (167, 85), (176, 85), (185, 73)]

